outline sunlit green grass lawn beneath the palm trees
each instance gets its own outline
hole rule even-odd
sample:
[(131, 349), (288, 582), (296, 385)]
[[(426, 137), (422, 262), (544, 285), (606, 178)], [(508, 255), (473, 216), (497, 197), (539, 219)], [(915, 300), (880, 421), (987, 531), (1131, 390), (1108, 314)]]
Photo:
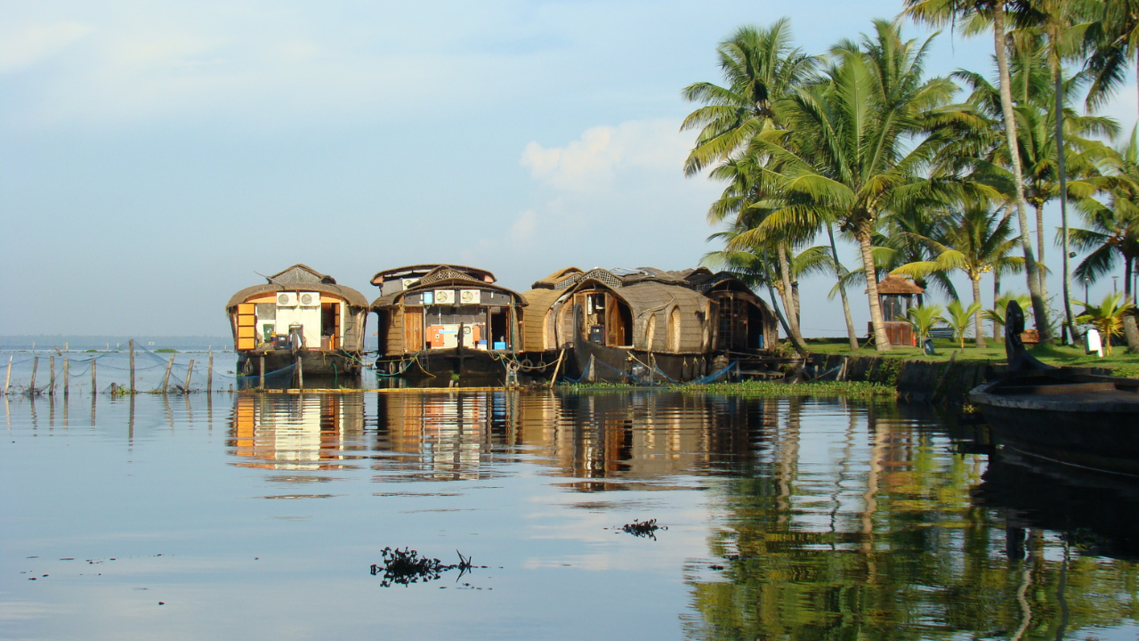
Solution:
[[(895, 347), (888, 352), (877, 352), (872, 347), (863, 347), (857, 352), (851, 352), (846, 341), (836, 342), (833, 340), (808, 340), (806, 347), (819, 354), (858, 354), (861, 356), (885, 355), (907, 360), (949, 360), (954, 351), (957, 360), (992, 360), (1000, 363), (1005, 360), (1005, 342), (988, 341), (985, 349), (977, 349), (967, 340), (965, 349), (951, 340), (935, 340), (934, 347), (937, 354), (926, 356), (916, 347)], [(1126, 346), (1114, 346), (1112, 356), (1103, 358), (1096, 355), (1088, 356), (1083, 348), (1074, 346), (1038, 346), (1029, 350), (1033, 356), (1049, 365), (1071, 365), (1077, 367), (1111, 367), (1118, 376), (1139, 376), (1139, 355), (1125, 354)]]

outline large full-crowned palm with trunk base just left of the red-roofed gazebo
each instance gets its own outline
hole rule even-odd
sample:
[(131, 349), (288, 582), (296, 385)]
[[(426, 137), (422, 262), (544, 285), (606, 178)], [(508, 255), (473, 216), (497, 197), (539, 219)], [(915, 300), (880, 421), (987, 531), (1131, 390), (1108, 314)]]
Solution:
[[(863, 36), (861, 46), (833, 48), (825, 82), (775, 106), (786, 130), (756, 136), (753, 153), (770, 159), (760, 179), (785, 206), (762, 226), (833, 218), (857, 240), (863, 271), (875, 273), (878, 217), (931, 194), (929, 181), (917, 176), (940, 140), (916, 138), (948, 117), (940, 109), (956, 90), (948, 79), (923, 79), (928, 44), (903, 41), (898, 27), (876, 21), (874, 36)], [(867, 279), (867, 298), (876, 349), (888, 351), (876, 278)]]

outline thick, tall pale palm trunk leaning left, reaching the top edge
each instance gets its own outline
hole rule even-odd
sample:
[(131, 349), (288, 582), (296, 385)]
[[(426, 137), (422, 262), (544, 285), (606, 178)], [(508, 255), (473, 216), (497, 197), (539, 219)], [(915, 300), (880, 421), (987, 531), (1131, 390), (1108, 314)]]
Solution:
[(1024, 251), (1024, 271), (1029, 281), (1029, 295), (1032, 298), (1032, 318), (1040, 332), (1041, 341), (1051, 341), (1048, 328), (1048, 315), (1044, 311), (1044, 298), (1040, 293), (1040, 279), (1036, 276), (1036, 259), (1032, 251), (1032, 240), (1029, 237), (1029, 216), (1024, 211), (1024, 175), (1021, 171), (1021, 152), (1016, 143), (1016, 116), (1013, 114), (1011, 79), (1008, 72), (1008, 50), (1005, 46), (1005, 2), (998, 2), (993, 8), (993, 49), (997, 54), (997, 68), (1000, 71), (1000, 106), (1005, 119), (1005, 138), (1008, 143), (1009, 159), (1013, 164), (1013, 182), (1016, 187), (1016, 218), (1021, 225), (1021, 249)]

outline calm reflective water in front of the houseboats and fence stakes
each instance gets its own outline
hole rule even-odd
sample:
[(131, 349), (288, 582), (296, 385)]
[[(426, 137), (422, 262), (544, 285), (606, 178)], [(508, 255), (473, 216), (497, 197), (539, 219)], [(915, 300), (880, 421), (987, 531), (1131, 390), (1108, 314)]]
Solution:
[[(468, 391), (2, 412), (2, 639), (1139, 633), (1139, 488), (991, 456), (923, 407)], [(622, 530), (649, 519), (667, 529)], [(489, 567), (385, 587), (387, 546)]]

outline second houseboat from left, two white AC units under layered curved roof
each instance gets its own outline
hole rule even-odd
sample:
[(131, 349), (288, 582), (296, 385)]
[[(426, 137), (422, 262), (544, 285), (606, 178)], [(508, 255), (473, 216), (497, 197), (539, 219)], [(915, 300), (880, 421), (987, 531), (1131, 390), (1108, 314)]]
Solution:
[(501, 383), (519, 363), (526, 299), (494, 282), (485, 269), (459, 265), (376, 274), (378, 376)]

